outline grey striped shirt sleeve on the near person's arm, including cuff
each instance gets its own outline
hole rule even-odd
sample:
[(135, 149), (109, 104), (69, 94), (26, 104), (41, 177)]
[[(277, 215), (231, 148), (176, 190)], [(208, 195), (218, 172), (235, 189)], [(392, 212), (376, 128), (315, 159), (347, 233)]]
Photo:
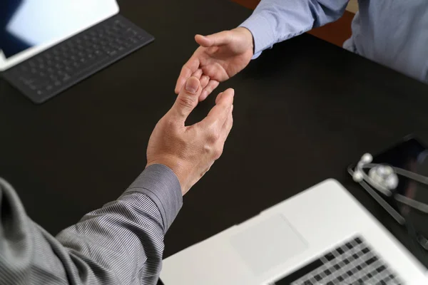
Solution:
[(116, 201), (56, 238), (0, 179), (0, 284), (156, 284), (163, 237), (183, 203), (165, 165), (151, 165)]

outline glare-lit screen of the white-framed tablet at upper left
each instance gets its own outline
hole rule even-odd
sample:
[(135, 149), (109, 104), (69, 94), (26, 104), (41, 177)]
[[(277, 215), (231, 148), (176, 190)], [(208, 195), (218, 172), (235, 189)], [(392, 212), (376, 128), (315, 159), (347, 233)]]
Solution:
[[(5, 58), (58, 41), (108, 16), (106, 0), (1, 0), (0, 51)], [(113, 1), (116, 5), (116, 1)], [(113, 15), (110, 15), (113, 16)]]

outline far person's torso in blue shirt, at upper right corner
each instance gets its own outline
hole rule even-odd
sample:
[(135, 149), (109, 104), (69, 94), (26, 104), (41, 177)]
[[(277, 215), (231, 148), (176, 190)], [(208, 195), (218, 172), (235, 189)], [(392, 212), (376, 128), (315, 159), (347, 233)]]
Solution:
[(344, 47), (428, 82), (428, 0), (359, 0)]

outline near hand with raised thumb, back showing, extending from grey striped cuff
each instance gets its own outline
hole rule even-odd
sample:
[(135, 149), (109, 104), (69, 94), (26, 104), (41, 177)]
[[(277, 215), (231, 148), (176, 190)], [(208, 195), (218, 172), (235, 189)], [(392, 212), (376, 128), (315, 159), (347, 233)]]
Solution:
[(233, 125), (234, 90), (220, 93), (208, 116), (195, 125), (185, 120), (198, 105), (202, 88), (198, 78), (185, 81), (177, 100), (153, 130), (147, 147), (147, 166), (163, 164), (170, 167), (186, 192), (207, 172), (223, 152)]

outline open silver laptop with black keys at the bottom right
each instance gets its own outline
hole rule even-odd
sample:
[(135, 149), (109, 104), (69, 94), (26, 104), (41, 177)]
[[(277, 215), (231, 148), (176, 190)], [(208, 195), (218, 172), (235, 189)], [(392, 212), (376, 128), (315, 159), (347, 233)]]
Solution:
[(428, 284), (428, 271), (326, 180), (163, 261), (165, 285)]

